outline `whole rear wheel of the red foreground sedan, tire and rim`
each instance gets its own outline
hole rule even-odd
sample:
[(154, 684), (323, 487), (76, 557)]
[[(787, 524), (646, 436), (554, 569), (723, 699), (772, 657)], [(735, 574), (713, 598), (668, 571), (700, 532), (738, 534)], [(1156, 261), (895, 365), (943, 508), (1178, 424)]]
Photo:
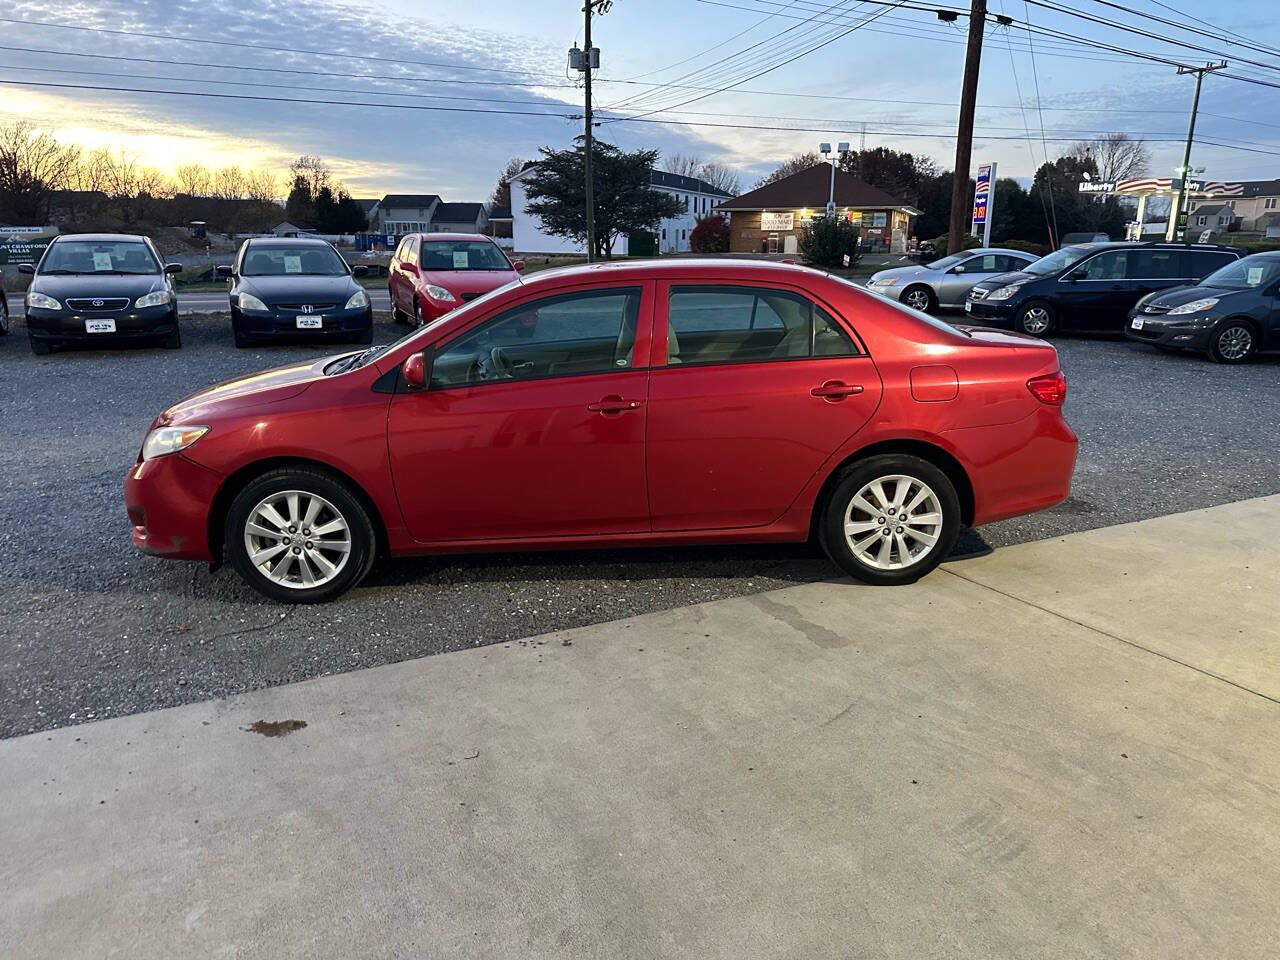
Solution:
[(911, 584), (941, 563), (960, 530), (960, 499), (933, 463), (882, 454), (854, 463), (818, 521), (827, 556), (868, 584)]

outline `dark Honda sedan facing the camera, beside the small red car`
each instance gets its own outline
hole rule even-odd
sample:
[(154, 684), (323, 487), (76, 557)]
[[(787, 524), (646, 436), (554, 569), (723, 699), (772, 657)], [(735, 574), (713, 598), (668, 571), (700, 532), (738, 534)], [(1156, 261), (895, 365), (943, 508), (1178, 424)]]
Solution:
[(236, 264), (218, 268), (230, 278), (236, 346), (300, 337), (372, 343), (374, 307), (355, 279), (366, 271), (348, 266), (328, 241), (244, 241)]

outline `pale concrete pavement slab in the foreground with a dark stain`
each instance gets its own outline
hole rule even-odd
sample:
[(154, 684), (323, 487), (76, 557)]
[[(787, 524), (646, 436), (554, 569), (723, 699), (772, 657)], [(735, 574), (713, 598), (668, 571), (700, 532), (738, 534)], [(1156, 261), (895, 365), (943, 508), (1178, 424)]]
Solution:
[(1245, 500), (9, 740), (0, 955), (1272, 956), (1277, 544)]

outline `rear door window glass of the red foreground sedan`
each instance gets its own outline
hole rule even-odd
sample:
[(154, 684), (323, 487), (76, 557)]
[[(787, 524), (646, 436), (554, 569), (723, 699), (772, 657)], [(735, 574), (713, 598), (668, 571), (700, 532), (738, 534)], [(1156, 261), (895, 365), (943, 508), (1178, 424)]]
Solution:
[(756, 364), (859, 353), (852, 338), (806, 297), (756, 287), (672, 287), (668, 364)]

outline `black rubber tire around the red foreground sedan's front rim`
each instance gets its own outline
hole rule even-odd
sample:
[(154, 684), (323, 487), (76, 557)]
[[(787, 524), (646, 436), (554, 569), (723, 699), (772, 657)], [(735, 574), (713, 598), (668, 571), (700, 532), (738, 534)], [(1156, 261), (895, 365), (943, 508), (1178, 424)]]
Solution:
[[(292, 490), (297, 490), (303, 495), (323, 498), (328, 502), (328, 506), (320, 516), (329, 517), (328, 508), (332, 507), (334, 513), (347, 526), (351, 544), (349, 553), (343, 563), (337, 564), (337, 573), (320, 586), (282, 585), (269, 579), (248, 554), (246, 525), (248, 524), (250, 515), (265, 498)], [(283, 517), (284, 515), (280, 516)], [(288, 517), (284, 518), (288, 520)], [(301, 530), (294, 532), (302, 534)], [(223, 543), (227, 561), (236, 568), (236, 572), (241, 575), (246, 584), (264, 596), (279, 603), (325, 603), (340, 596), (365, 579), (374, 564), (378, 540), (369, 512), (346, 481), (314, 467), (282, 467), (250, 481), (236, 495), (230, 508), (227, 511)], [(262, 544), (262, 540), (259, 539), (257, 543)], [(282, 540), (280, 544), (283, 543)], [(293, 547), (287, 547), (285, 554), (282, 556), (287, 556), (288, 553), (300, 554), (306, 543), (311, 541), (306, 540), (301, 544), (296, 543)], [(264, 544), (264, 549), (269, 544)], [(333, 557), (334, 554), (330, 553), (329, 556)], [(302, 563), (302, 558), (294, 559), (289, 570), (293, 571), (294, 567)], [(310, 568), (316, 571), (319, 566), (310, 566)], [(293, 572), (296, 573), (296, 571)]]

